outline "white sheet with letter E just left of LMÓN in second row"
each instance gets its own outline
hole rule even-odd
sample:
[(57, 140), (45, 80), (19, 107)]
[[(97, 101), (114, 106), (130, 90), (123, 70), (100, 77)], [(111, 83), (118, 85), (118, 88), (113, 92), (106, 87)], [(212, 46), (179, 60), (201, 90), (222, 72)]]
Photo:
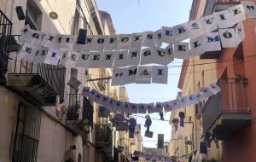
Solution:
[(189, 43), (174, 43), (174, 57), (177, 59), (189, 59)]

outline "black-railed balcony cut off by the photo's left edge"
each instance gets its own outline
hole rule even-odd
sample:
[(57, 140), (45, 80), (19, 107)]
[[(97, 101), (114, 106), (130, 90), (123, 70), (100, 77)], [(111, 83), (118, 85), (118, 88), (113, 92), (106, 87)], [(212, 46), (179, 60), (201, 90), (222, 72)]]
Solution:
[(9, 62), (9, 48), (13, 23), (0, 10), (0, 85), (7, 83), (5, 74)]

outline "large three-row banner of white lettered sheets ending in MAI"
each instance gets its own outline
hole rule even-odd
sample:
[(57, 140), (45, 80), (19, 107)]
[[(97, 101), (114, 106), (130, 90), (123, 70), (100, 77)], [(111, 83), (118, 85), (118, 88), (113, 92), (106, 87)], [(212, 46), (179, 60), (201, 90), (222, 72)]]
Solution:
[[(34, 63), (84, 68), (113, 68), (112, 85), (167, 84), (174, 58), (189, 59), (222, 48), (236, 48), (245, 38), (243, 20), (256, 18), (256, 5), (242, 1), (219, 12), (156, 32), (79, 36), (21, 30), (18, 58)], [(183, 40), (189, 38), (189, 43)], [(157, 64), (157, 66), (152, 66)]]

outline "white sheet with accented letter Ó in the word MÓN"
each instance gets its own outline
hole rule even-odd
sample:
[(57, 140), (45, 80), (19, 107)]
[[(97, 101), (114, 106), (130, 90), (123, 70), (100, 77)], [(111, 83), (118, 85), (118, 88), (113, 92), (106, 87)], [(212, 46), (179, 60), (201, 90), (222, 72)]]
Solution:
[(234, 28), (218, 29), (223, 48), (237, 47), (236, 32)]

